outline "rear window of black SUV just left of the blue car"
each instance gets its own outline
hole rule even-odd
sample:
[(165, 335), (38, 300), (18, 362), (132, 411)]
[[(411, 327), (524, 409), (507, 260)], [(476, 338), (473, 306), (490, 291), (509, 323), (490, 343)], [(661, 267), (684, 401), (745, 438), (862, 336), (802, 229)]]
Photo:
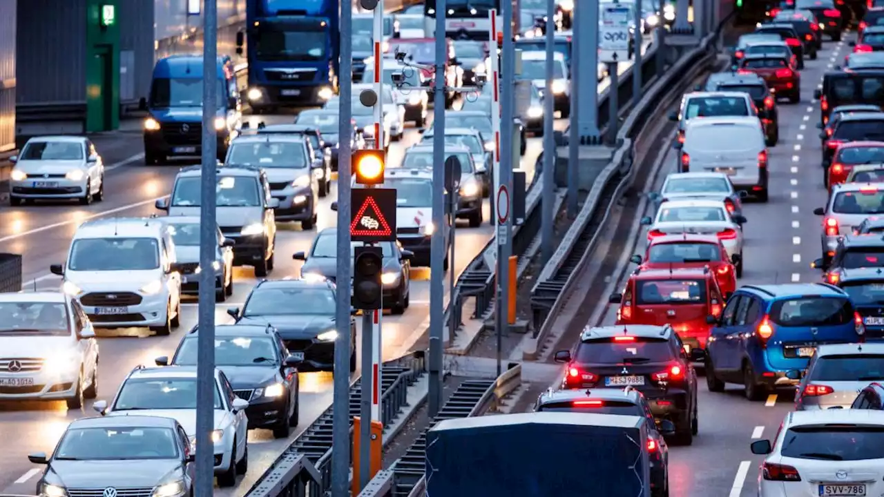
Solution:
[(673, 348), (662, 338), (616, 337), (586, 340), (577, 347), (575, 361), (592, 364), (665, 363), (674, 358)]

